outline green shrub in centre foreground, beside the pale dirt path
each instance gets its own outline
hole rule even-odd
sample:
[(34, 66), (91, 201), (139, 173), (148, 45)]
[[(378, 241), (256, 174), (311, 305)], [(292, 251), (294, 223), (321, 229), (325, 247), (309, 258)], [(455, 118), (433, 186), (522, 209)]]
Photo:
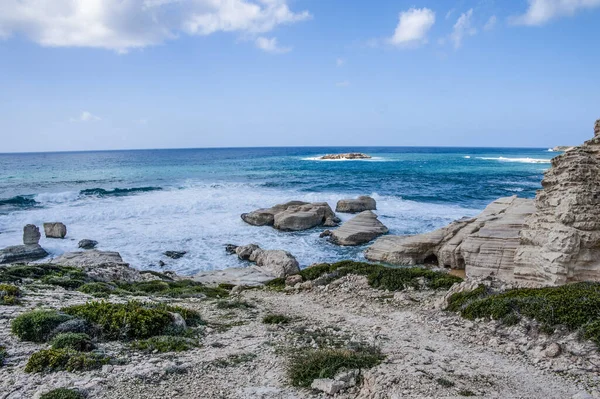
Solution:
[(306, 350), (295, 354), (288, 366), (288, 377), (294, 386), (310, 387), (317, 378), (333, 378), (341, 369), (371, 368), (383, 360), (378, 349), (362, 348)]

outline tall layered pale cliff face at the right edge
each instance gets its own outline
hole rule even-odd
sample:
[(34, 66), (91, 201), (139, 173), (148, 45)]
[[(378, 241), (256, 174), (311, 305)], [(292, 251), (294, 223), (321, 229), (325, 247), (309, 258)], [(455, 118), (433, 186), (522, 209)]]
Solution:
[(515, 278), (560, 285), (600, 280), (600, 120), (595, 137), (552, 160), (521, 231)]

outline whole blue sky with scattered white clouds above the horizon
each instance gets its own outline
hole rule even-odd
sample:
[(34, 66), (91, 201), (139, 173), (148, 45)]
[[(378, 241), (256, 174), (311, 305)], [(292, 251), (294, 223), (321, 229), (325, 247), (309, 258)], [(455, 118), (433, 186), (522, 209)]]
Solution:
[(552, 147), (600, 0), (0, 0), (0, 152)]

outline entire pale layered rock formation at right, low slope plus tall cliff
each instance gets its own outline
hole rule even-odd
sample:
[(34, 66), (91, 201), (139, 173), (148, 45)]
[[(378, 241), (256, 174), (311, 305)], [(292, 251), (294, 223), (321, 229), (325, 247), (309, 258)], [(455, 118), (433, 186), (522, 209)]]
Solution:
[(595, 137), (554, 158), (535, 201), (501, 198), (427, 234), (382, 237), (367, 259), (432, 262), (522, 285), (600, 281), (600, 120)]

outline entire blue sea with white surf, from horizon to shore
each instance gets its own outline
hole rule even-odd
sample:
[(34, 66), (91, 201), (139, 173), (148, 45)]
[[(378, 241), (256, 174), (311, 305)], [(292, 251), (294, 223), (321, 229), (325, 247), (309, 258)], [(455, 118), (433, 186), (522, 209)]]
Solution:
[[(372, 158), (319, 159), (345, 152)], [(0, 248), (21, 244), (25, 224), (60, 221), (67, 237), (40, 241), (51, 256), (89, 238), (138, 269), (184, 275), (243, 266), (226, 254), (226, 244), (284, 249), (301, 267), (361, 260), (366, 246), (333, 245), (319, 238), (323, 228), (280, 232), (250, 226), (240, 214), (290, 200), (326, 201), (335, 209), (342, 198), (370, 195), (390, 234), (424, 233), (474, 216), (499, 197), (533, 198), (556, 155), (542, 148), (445, 147), (0, 154)], [(173, 260), (163, 255), (168, 250), (187, 254)]]

